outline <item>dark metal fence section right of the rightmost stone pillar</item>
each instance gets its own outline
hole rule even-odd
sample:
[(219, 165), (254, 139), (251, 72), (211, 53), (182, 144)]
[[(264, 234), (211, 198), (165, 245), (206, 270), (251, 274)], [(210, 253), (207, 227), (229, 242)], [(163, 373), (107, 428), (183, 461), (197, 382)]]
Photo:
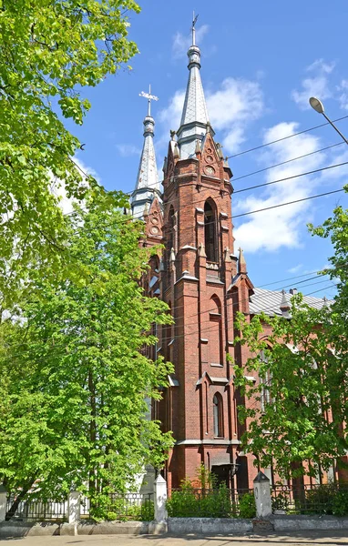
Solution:
[(271, 488), (275, 514), (348, 514), (348, 483), (323, 485), (276, 485)]

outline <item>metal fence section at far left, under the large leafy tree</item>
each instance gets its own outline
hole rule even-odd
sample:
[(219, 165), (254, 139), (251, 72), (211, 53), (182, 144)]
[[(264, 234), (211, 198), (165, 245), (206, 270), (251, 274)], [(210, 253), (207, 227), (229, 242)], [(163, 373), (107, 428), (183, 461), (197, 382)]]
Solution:
[[(10, 511), (14, 499), (7, 499), (6, 512)], [(20, 501), (14, 520), (28, 521), (67, 521), (67, 501)]]

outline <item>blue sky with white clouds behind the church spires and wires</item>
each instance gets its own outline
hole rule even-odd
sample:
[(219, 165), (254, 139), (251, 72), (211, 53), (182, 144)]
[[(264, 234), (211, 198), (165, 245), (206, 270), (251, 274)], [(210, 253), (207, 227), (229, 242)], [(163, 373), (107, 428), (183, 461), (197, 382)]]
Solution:
[[(197, 42), (201, 50), (201, 77), (211, 124), (225, 155), (238, 154), (271, 140), (324, 122), (308, 106), (309, 96), (322, 98), (333, 119), (348, 116), (348, 66), (346, 25), (348, 3), (335, 0), (300, 2), (189, 3), (177, 0), (140, 0), (142, 12), (130, 16), (129, 35), (140, 54), (95, 89), (84, 90), (92, 109), (82, 127), (70, 129), (86, 143), (77, 159), (107, 189), (134, 188), (142, 146), (142, 120), (146, 100), (142, 90), (152, 86), (159, 96), (152, 113), (156, 120), (155, 146), (159, 168), (166, 155), (169, 129), (179, 128), (179, 114), (187, 83), (186, 51), (192, 10), (200, 14)], [(338, 123), (348, 135), (348, 118)], [(234, 178), (264, 167), (311, 153), (340, 142), (333, 128), (320, 129), (283, 140), (230, 159)], [(333, 147), (285, 166), (233, 180), (235, 190), (308, 170), (348, 161), (348, 147)], [(312, 177), (301, 177), (259, 190), (236, 194), (233, 214), (309, 197), (343, 187), (348, 166)], [(312, 238), (306, 223), (319, 224), (337, 204), (347, 206), (343, 194), (322, 197), (274, 211), (236, 218), (236, 248), (244, 248), (255, 286), (300, 276), (325, 267), (332, 250), (327, 240)], [(303, 293), (328, 298), (333, 284), (305, 279), (281, 282), (270, 288), (293, 284)]]

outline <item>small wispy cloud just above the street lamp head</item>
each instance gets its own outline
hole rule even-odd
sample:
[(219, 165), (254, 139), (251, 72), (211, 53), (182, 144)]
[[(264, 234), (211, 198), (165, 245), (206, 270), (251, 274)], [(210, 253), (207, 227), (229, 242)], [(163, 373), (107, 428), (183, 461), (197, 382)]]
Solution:
[(314, 73), (313, 76), (302, 80), (302, 90), (292, 91), (292, 99), (302, 110), (310, 108), (308, 101), (311, 96), (318, 96), (321, 100), (333, 96), (328, 76), (333, 72), (334, 66), (334, 63), (325, 63), (323, 59), (317, 59), (311, 66), (307, 66), (306, 71)]

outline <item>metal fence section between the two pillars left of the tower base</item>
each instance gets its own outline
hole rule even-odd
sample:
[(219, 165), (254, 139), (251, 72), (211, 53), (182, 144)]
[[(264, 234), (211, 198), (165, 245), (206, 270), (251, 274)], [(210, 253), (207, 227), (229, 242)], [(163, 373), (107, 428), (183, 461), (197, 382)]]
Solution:
[[(110, 493), (103, 503), (108, 520), (152, 521), (154, 519), (153, 493)], [(91, 507), (89, 499), (81, 500), (81, 519), (92, 519), (98, 513), (98, 503)]]

